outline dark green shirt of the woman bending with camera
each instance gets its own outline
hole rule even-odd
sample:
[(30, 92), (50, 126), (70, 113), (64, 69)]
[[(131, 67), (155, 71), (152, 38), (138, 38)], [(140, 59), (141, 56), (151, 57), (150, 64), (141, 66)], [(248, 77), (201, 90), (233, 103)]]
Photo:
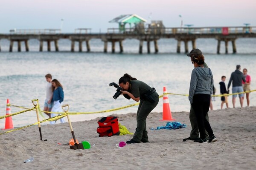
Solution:
[(152, 90), (152, 88), (145, 82), (140, 80), (131, 80), (131, 94), (133, 94), (135, 98), (142, 96), (148, 90)]

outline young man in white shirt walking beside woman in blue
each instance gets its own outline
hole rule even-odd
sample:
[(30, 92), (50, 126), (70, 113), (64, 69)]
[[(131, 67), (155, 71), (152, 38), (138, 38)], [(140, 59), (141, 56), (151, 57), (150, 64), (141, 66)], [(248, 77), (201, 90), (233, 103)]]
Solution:
[[(44, 111), (51, 111), (52, 110), (52, 75), (51, 74), (46, 74), (45, 79), (47, 81), (47, 86), (46, 86), (46, 99), (44, 101)], [(45, 113), (45, 112), (44, 112)], [(51, 117), (50, 113), (45, 113), (49, 117)]]

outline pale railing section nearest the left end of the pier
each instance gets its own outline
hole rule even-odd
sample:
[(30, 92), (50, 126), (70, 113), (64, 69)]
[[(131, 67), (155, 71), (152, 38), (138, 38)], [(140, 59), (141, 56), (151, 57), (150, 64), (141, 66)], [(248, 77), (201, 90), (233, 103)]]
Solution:
[(61, 29), (11, 29), (10, 34), (61, 34)]

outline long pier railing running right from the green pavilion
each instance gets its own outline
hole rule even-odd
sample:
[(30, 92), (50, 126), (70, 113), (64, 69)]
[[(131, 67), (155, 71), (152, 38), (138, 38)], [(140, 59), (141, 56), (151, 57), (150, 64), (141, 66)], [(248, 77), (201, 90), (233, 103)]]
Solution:
[(256, 34), (256, 27), (108, 28), (107, 34)]

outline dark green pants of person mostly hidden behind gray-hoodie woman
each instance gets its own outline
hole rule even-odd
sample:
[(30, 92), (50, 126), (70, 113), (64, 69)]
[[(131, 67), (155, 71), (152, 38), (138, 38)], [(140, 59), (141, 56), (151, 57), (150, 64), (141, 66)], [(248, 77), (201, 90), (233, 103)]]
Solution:
[[(206, 119), (209, 122), (208, 113), (206, 114)], [(195, 116), (195, 111), (191, 104), (190, 104), (190, 111), (189, 111), (189, 120), (190, 120), (191, 127), (192, 127), (192, 130), (190, 132), (190, 138), (197, 139), (197, 138), (199, 138), (198, 124), (197, 124), (197, 119)], [(209, 138), (208, 132), (206, 130), (205, 130), (205, 136), (206, 136), (206, 139)]]

